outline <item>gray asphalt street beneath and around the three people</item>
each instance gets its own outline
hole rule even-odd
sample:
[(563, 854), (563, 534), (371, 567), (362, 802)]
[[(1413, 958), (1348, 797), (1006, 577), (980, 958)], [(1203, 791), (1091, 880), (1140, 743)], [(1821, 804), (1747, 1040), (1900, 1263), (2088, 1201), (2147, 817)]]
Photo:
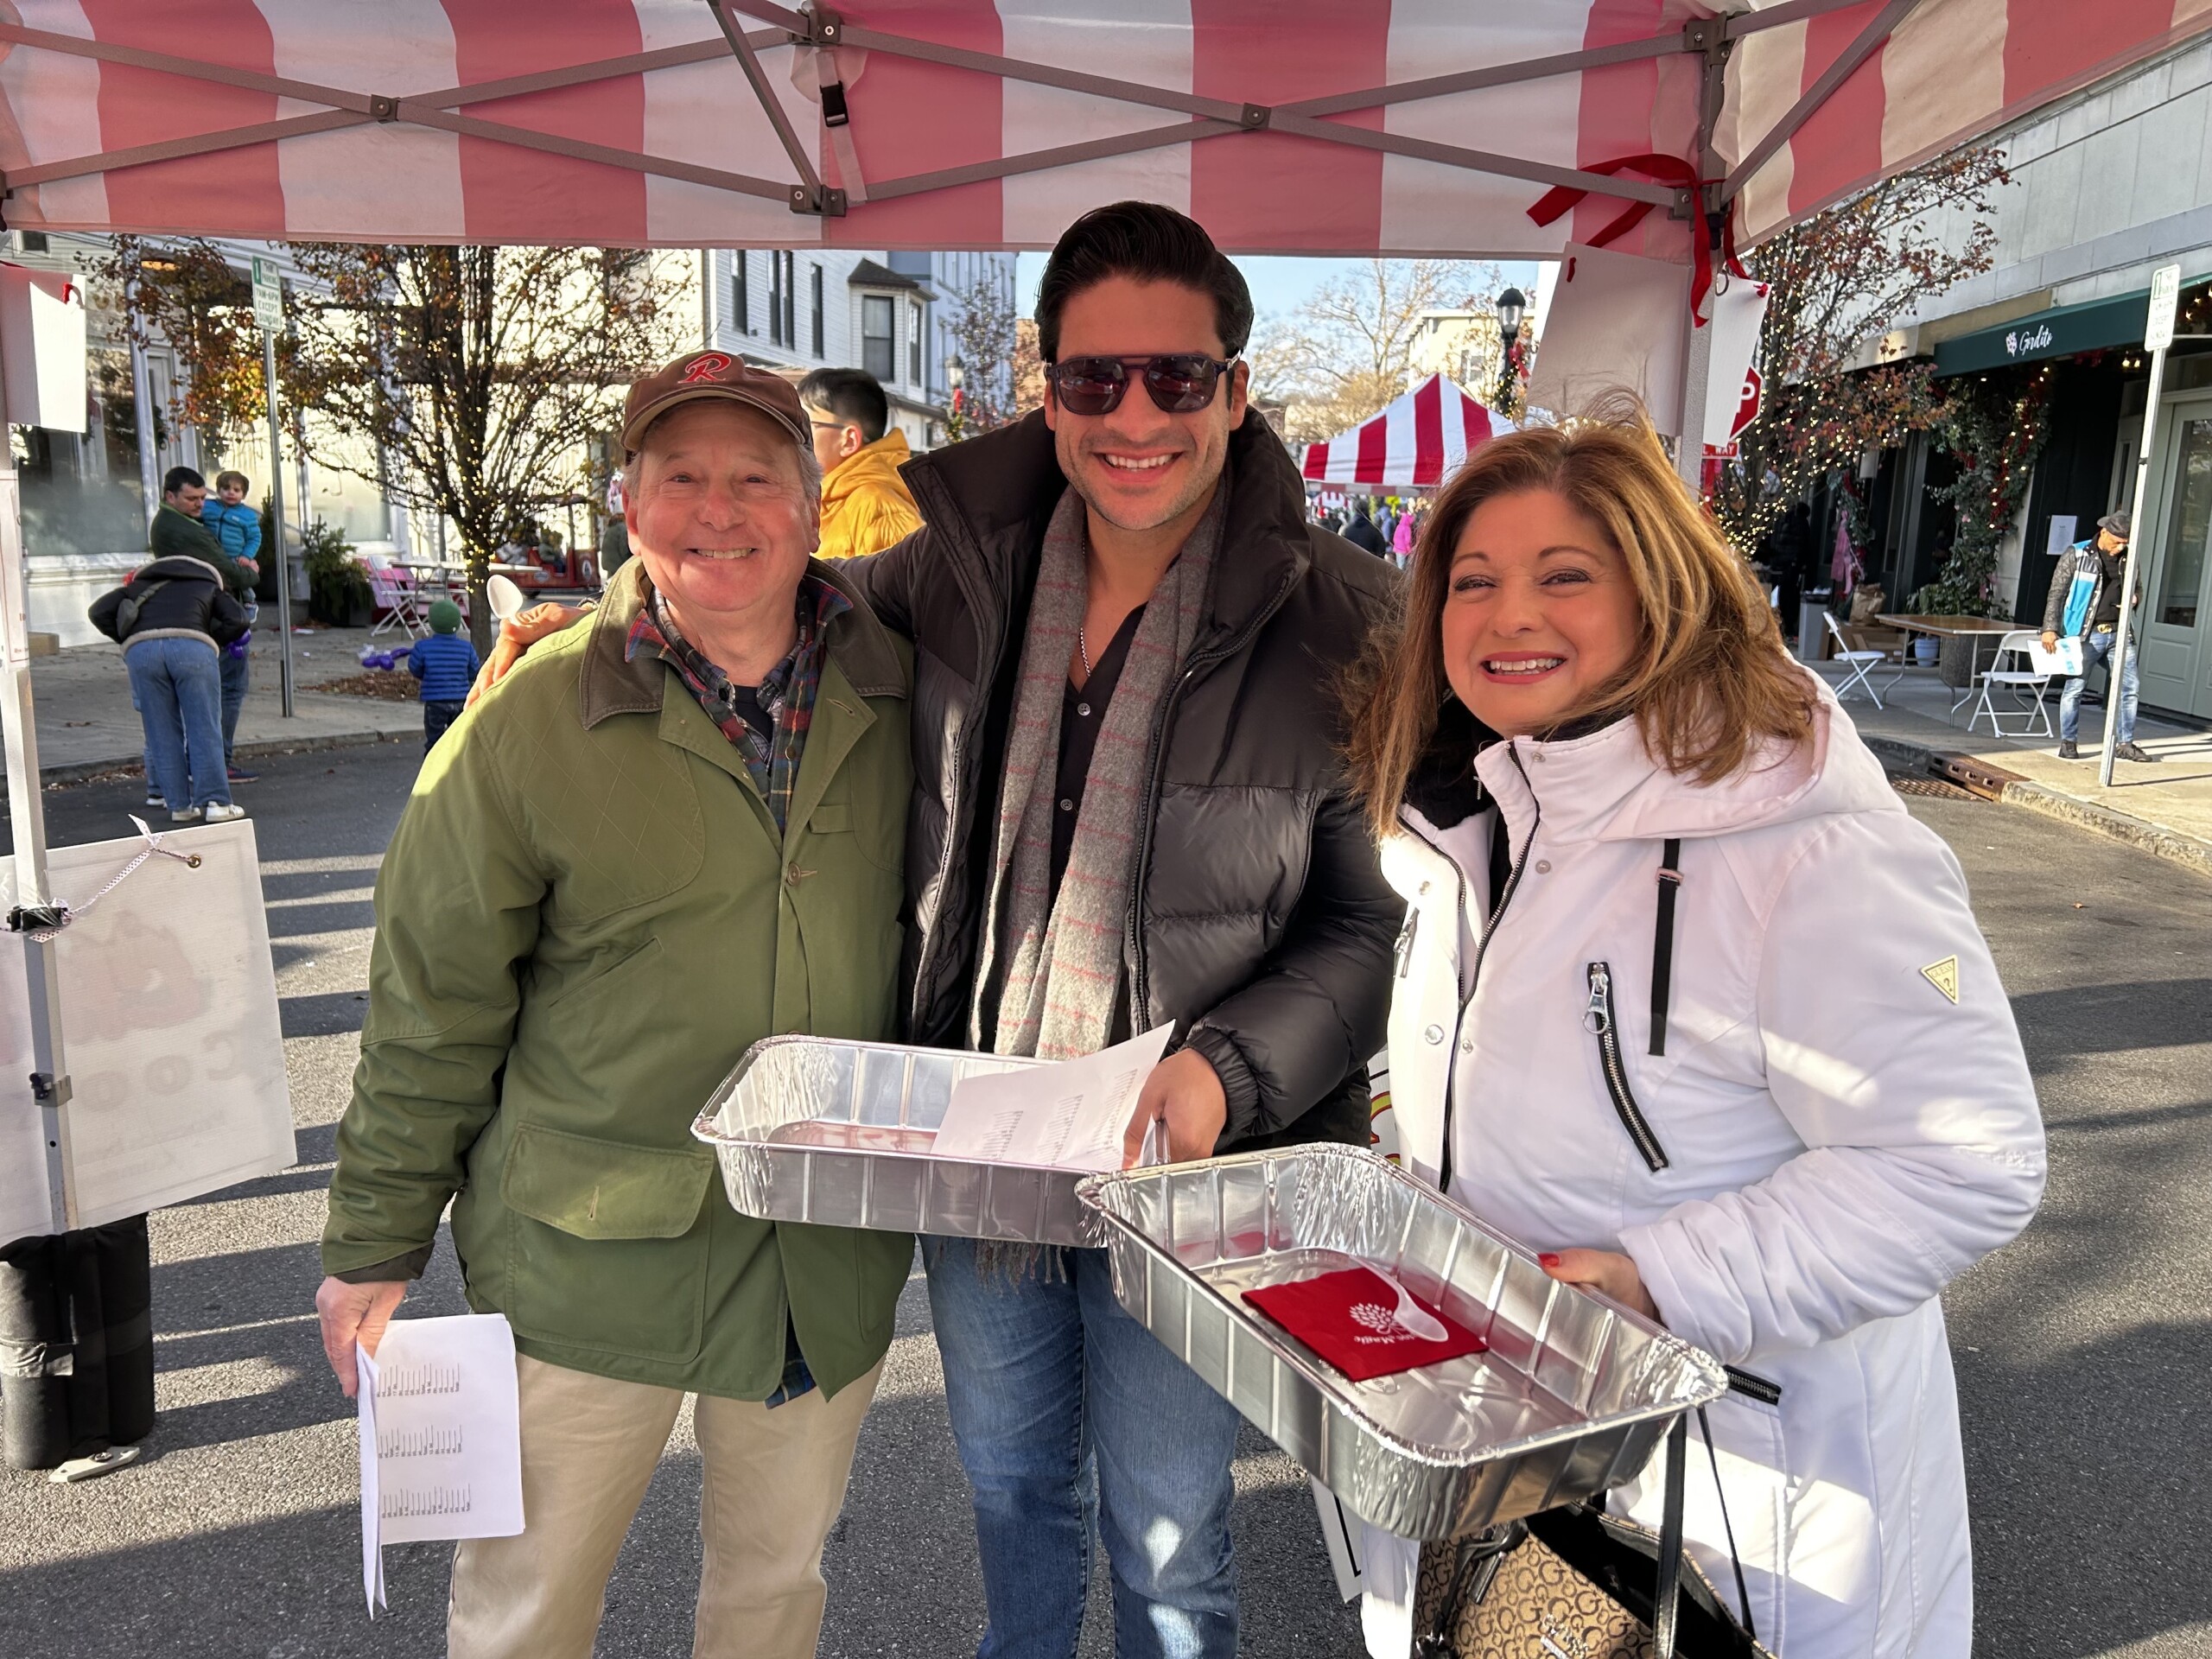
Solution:
[[(442, 1652), (447, 1546), (387, 1553), (363, 1610), (349, 1402), (310, 1298), (365, 1009), (372, 885), (409, 745), (259, 763), (254, 812), (299, 1166), (153, 1217), (159, 1425), (84, 1486), (0, 1471), (0, 1655)], [(46, 792), (55, 843), (128, 834), (137, 781)], [(2212, 883), (1973, 801), (1913, 799), (1958, 852), (2051, 1124), (2031, 1232), (1947, 1296), (1989, 1659), (2212, 1650)], [(1880, 927), (1880, 916), (1867, 916)], [(1838, 993), (1847, 989), (1838, 987)], [(823, 1655), (960, 1655), (980, 1635), (967, 1493), (920, 1279), (830, 1542)], [(449, 1250), (409, 1312), (460, 1312)], [(1305, 1478), (1241, 1447), (1245, 1652), (1358, 1652)], [(699, 1464), (679, 1425), (608, 1590), (602, 1655), (690, 1652)], [(1082, 1652), (1110, 1652), (1104, 1584)]]

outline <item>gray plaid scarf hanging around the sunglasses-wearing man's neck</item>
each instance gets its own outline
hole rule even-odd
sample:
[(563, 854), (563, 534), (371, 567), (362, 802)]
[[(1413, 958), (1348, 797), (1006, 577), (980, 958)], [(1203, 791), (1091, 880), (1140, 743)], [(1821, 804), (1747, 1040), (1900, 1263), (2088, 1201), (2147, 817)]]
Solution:
[(1022, 679), (1006, 737), (1006, 781), (998, 801), (991, 894), (969, 1044), (984, 1046), (987, 995), (995, 993), (991, 1046), (1002, 1055), (1073, 1060), (1113, 1040), (1121, 989), (1121, 927), (1128, 918), (1144, 807), (1144, 763), (1152, 717), (1168, 679), (1190, 655), (1228, 515), (1228, 480), (1159, 577), (1115, 681), (1099, 728), (1075, 843), (1051, 898), (1053, 770), (1060, 754), (1060, 703), (1068, 684), (1075, 630), (1091, 595), (1084, 502), (1071, 489), (1044, 531), (1037, 595), (1022, 639)]

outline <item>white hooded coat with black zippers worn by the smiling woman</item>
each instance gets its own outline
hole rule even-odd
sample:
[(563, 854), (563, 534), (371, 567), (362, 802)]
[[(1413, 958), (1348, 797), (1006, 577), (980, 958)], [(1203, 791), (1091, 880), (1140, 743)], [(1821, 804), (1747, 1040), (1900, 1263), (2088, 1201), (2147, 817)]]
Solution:
[[(1814, 741), (1701, 787), (1635, 721), (1513, 739), (1451, 830), (1407, 810), (1389, 1020), (1405, 1164), (1535, 1250), (1626, 1252), (1661, 1318), (1739, 1367), (1710, 1409), (1761, 1641), (1783, 1659), (1966, 1659), (1973, 1575), (1938, 1292), (2015, 1237), (2044, 1137), (1951, 849), (1834, 699)], [(1491, 911), (1493, 812), (1515, 876)], [(1659, 865), (1681, 838), (1666, 1053), (1650, 1053)], [(1630, 1110), (1593, 1015), (1606, 964)], [(1778, 1389), (1778, 1400), (1761, 1398)], [(1697, 1429), (1692, 1425), (1692, 1442)], [(1624, 1493), (1657, 1528), (1659, 1460)], [(1734, 1601), (1710, 1464), (1688, 1528)], [(1369, 1648), (1409, 1646), (1413, 1546), (1369, 1533)]]

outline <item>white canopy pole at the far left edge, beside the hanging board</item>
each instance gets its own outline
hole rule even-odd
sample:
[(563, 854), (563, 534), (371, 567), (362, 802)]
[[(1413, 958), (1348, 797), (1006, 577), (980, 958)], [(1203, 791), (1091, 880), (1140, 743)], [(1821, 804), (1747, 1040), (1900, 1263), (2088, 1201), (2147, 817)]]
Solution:
[[(29, 1088), (46, 1141), (46, 1212), (53, 1232), (77, 1225), (69, 1179), (69, 1066), (62, 1048), (62, 975), (55, 940), (35, 933), (53, 920), (38, 916), (53, 902), (46, 887), (46, 801), (38, 781), (38, 726), (31, 719), (31, 615), (22, 562), (22, 489), (15, 478), (13, 434), (0, 429), (0, 737), (7, 743), (9, 830), (15, 838), (15, 914), (31, 1013), (31, 1075), (0, 1079), (0, 1088)], [(0, 947), (4, 949), (4, 947)]]

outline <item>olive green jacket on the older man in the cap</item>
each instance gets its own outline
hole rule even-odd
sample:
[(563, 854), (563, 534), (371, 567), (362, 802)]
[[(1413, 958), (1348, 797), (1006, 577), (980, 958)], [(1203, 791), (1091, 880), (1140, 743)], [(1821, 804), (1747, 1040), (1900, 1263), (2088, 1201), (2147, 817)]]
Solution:
[(759, 1037), (894, 1035), (911, 653), (858, 599), (830, 624), (779, 836), (675, 672), (624, 661), (639, 575), (422, 765), (323, 1267), (420, 1252), (453, 1199), (469, 1303), (520, 1352), (759, 1400), (787, 1321), (834, 1394), (889, 1345), (914, 1241), (739, 1217), (690, 1124)]

